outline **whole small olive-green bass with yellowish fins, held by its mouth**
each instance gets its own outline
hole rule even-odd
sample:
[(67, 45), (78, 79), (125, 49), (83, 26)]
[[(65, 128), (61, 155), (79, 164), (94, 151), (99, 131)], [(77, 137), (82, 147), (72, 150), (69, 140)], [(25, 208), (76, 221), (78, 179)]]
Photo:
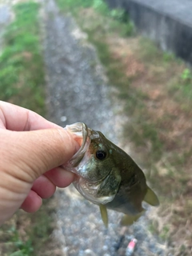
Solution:
[(73, 183), (78, 192), (99, 206), (106, 227), (108, 209), (123, 213), (121, 225), (128, 226), (145, 213), (143, 201), (151, 206), (159, 205), (141, 168), (102, 132), (90, 129), (83, 122), (64, 129), (73, 134), (80, 148), (62, 167), (75, 174)]

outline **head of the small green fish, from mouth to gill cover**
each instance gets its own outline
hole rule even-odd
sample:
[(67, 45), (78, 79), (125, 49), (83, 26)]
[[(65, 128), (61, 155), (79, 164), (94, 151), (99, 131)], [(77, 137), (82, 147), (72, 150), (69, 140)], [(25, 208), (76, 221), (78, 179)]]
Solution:
[(74, 186), (86, 199), (96, 204), (112, 201), (117, 194), (121, 176), (112, 159), (110, 141), (84, 123), (66, 126), (66, 130), (81, 145), (73, 158), (63, 166), (76, 174)]

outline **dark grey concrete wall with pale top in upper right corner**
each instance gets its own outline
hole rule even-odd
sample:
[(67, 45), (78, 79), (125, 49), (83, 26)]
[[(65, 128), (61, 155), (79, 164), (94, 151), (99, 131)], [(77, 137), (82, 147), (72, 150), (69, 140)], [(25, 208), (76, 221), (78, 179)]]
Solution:
[(192, 64), (191, 0), (106, 0), (127, 10), (138, 30), (162, 48)]

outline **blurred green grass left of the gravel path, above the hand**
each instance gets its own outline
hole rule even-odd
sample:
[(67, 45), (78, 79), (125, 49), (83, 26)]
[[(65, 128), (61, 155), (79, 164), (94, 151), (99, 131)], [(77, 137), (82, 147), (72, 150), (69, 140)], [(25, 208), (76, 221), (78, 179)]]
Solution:
[(45, 114), (44, 70), (38, 3), (14, 6), (16, 17), (6, 27), (0, 56), (1, 100)]

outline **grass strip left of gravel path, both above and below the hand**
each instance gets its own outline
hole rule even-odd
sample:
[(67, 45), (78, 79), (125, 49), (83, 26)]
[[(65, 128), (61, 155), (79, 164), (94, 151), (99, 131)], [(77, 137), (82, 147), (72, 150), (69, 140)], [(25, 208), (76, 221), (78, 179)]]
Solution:
[[(0, 55), (1, 100), (45, 114), (44, 70), (38, 21), (39, 5), (13, 6), (14, 21), (6, 27)], [(36, 214), (18, 211), (0, 228), (2, 256), (43, 255), (49, 248), (53, 207), (44, 203)], [(45, 254), (44, 254), (45, 255)]]

